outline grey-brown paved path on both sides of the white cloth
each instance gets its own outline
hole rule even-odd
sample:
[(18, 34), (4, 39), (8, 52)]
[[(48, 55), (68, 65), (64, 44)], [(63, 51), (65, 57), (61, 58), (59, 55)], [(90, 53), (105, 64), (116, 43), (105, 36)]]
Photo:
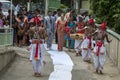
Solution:
[[(15, 49), (18, 55), (0, 80), (49, 80), (50, 74), (54, 71), (50, 54), (46, 52), (46, 65), (42, 69), (43, 76), (36, 78), (33, 76), (29, 52), (25, 48), (12, 47), (11, 49)], [(80, 56), (76, 57), (74, 51), (68, 52), (66, 48), (64, 48), (64, 51), (71, 57), (74, 64), (71, 80), (120, 80), (118, 70), (108, 58), (103, 71), (104, 75), (98, 75), (94, 73), (93, 65), (83, 62)]]

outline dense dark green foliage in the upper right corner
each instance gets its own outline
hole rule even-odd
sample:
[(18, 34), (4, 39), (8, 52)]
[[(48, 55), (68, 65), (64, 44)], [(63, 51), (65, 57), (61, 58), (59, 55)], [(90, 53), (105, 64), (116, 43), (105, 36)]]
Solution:
[(120, 33), (120, 1), (119, 0), (91, 0), (91, 7), (95, 14), (96, 22), (107, 21), (110, 28)]

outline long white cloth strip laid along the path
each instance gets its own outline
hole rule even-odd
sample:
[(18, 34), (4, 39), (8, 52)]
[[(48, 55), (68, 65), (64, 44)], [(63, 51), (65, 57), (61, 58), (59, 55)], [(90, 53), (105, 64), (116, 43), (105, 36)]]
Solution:
[(72, 80), (73, 62), (70, 56), (64, 51), (57, 51), (56, 44), (53, 44), (52, 50), (47, 52), (51, 55), (54, 64), (54, 71), (50, 74), (49, 80)]

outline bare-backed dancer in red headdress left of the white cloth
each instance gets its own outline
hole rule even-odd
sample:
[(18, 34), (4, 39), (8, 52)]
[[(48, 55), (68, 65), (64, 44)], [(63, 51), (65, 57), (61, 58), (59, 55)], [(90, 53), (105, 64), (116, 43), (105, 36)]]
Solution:
[(44, 39), (43, 33), (45, 33), (45, 29), (42, 28), (39, 24), (40, 20), (35, 20), (33, 22), (34, 27), (31, 27), (29, 30), (30, 36), (30, 46), (27, 50), (30, 50), (30, 61), (33, 65), (34, 76), (41, 77), (41, 68), (45, 64), (44, 55)]

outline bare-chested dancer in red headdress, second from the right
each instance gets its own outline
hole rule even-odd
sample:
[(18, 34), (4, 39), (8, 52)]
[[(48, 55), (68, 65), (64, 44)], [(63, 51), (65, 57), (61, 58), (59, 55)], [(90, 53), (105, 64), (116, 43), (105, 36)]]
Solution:
[(94, 47), (93, 37), (91, 36), (91, 34), (95, 31), (94, 24), (95, 23), (93, 19), (88, 21), (88, 26), (85, 28), (84, 40), (81, 44), (83, 61), (89, 63), (91, 62), (92, 50)]

